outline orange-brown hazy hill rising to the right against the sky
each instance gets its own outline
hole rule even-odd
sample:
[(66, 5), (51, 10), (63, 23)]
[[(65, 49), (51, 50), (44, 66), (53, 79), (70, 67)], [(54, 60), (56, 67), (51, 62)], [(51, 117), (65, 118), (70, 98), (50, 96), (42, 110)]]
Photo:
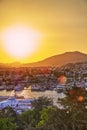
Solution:
[(87, 54), (74, 51), (74, 52), (66, 52), (60, 55), (51, 56), (42, 61), (25, 64), (24, 66), (62, 66), (68, 63), (77, 63), (77, 62), (85, 62), (87, 61)]

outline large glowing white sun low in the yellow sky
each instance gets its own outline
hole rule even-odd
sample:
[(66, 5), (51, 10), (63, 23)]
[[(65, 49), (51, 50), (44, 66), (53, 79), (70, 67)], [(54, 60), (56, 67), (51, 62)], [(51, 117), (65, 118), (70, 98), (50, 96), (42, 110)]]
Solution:
[(40, 34), (23, 26), (8, 28), (2, 35), (3, 48), (16, 59), (23, 59), (34, 53), (40, 40)]

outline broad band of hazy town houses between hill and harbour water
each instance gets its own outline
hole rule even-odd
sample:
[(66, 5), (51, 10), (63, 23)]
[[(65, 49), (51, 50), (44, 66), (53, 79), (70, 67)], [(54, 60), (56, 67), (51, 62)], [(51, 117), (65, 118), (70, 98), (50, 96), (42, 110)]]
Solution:
[(67, 78), (66, 87), (87, 87), (87, 62), (62, 67), (0, 69), (0, 90), (22, 90), (29, 86), (32, 90), (53, 90), (60, 84), (58, 78), (63, 75)]

